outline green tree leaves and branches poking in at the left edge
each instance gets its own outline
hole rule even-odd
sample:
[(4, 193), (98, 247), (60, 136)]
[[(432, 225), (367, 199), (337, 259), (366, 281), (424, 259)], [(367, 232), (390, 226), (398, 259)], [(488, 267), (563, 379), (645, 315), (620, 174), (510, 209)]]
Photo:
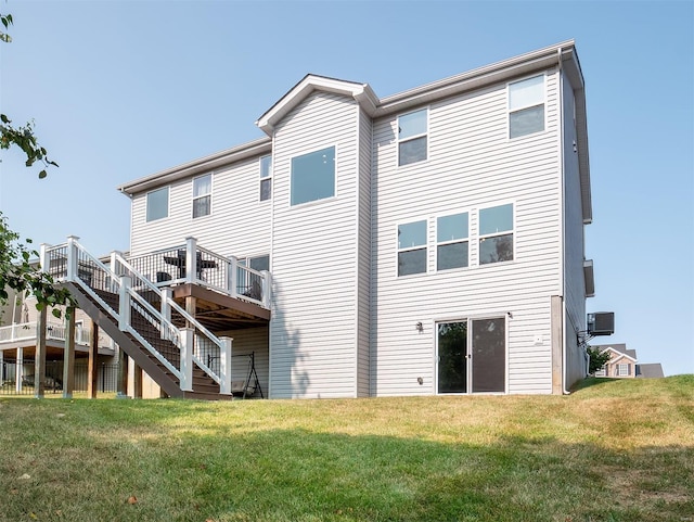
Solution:
[[(0, 14), (0, 41), (9, 43), (12, 41), (7, 29), (12, 25), (12, 15)], [(37, 161), (49, 166), (57, 167), (55, 162), (48, 158), (46, 149), (39, 143), (34, 133), (33, 123), (27, 123), (21, 127), (13, 127), (12, 120), (4, 114), (0, 114), (0, 149), (18, 147), (26, 154), (25, 165), (30, 167)], [(39, 178), (47, 176), (46, 168), (39, 173)], [(31, 243), (27, 239), (26, 243)], [(37, 300), (38, 309), (49, 306), (68, 305), (76, 303), (69, 292), (64, 288), (57, 288), (53, 278), (40, 270), (40, 267), (30, 263), (33, 257), (38, 257), (38, 253), (20, 242), (20, 234), (13, 232), (8, 226), (8, 219), (0, 213), (0, 304), (8, 301), (8, 289), (17, 293), (28, 292)], [(60, 317), (61, 311), (53, 309), (53, 315)]]

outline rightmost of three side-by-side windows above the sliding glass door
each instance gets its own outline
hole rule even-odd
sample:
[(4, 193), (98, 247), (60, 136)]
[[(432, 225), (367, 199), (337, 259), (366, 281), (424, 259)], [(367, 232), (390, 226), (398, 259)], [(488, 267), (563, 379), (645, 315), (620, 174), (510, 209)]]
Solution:
[(479, 211), (479, 264), (513, 259), (513, 204)]

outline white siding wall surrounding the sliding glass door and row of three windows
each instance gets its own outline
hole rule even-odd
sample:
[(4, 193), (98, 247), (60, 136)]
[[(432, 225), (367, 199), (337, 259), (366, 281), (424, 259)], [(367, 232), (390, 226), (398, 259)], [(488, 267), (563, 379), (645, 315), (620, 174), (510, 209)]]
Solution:
[[(550, 298), (562, 291), (557, 80), (556, 72), (548, 73), (545, 131), (511, 141), (505, 84), (430, 105), (428, 160), (404, 167), (397, 166), (397, 119), (375, 122), (371, 340), (377, 395), (436, 392), (436, 321), (507, 313), (507, 391), (551, 393)], [(503, 203), (514, 204), (514, 260), (479, 266), (478, 212)], [(465, 211), (470, 267), (436, 272), (436, 217)], [(428, 222), (428, 272), (398, 278), (397, 225), (417, 219)]]

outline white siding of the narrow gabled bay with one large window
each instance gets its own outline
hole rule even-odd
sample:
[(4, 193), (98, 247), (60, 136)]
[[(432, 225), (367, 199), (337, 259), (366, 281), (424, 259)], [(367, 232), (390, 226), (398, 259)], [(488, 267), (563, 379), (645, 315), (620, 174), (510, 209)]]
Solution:
[[(275, 128), (271, 397), (357, 395), (358, 114), (314, 92)], [(331, 145), (335, 196), (291, 206), (292, 157)]]

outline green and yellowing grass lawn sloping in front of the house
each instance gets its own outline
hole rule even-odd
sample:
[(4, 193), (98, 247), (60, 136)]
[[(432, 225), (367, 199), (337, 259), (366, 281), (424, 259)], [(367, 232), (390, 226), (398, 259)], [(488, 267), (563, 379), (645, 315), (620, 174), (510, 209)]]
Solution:
[(694, 375), (569, 396), (0, 397), (0, 521), (694, 521)]

